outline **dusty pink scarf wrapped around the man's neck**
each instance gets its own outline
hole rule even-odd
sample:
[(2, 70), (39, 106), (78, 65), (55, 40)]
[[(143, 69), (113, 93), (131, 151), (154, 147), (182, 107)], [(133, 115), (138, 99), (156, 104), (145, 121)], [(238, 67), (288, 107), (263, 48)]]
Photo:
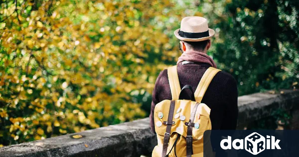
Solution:
[(213, 61), (213, 59), (210, 56), (199, 51), (184, 52), (179, 57), (179, 60), (176, 64), (179, 64), (185, 60), (193, 63), (207, 63), (210, 64), (212, 67), (217, 68), (216, 63)]

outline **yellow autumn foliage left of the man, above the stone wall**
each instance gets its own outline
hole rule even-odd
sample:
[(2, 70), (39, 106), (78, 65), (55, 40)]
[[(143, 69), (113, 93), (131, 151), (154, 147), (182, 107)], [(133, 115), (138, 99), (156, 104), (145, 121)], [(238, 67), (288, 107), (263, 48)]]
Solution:
[(0, 146), (145, 117), (156, 76), (179, 55), (169, 34), (183, 15), (167, 0), (0, 7)]

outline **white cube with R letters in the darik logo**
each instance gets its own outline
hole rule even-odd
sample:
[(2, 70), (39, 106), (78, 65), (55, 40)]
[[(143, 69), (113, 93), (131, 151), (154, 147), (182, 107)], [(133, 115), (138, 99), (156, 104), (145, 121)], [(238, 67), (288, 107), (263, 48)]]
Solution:
[(266, 148), (266, 139), (264, 136), (253, 132), (245, 137), (245, 150), (253, 155), (257, 155)]

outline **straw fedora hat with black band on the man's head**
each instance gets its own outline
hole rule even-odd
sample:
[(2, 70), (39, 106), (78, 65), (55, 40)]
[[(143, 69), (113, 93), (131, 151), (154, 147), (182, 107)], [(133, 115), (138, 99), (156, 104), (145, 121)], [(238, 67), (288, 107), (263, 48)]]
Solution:
[(199, 16), (184, 17), (181, 28), (174, 31), (174, 35), (183, 41), (199, 42), (213, 37), (215, 31), (208, 27), (207, 19)]

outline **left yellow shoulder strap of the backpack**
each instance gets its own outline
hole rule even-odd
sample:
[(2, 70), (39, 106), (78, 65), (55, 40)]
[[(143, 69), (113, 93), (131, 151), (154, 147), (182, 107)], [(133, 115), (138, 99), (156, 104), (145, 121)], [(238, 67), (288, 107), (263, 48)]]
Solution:
[(172, 100), (178, 100), (179, 94), (181, 92), (181, 86), (179, 82), (176, 65), (171, 66), (167, 69), (167, 75), (168, 75)]

